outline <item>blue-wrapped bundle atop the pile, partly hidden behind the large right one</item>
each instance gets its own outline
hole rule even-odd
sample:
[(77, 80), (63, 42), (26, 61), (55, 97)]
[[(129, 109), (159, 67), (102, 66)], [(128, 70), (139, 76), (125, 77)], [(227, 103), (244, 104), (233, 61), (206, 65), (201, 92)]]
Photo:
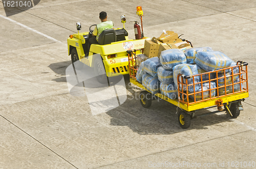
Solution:
[(196, 47), (196, 48), (189, 48), (184, 51), (186, 58), (187, 58), (187, 64), (195, 64), (195, 59), (197, 57), (197, 52), (199, 51), (213, 51), (211, 47)]

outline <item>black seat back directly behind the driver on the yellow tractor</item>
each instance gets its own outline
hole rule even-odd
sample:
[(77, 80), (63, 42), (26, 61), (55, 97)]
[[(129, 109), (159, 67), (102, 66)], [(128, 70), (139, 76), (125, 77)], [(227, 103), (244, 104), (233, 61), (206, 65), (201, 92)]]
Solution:
[(114, 29), (104, 30), (99, 35), (98, 43), (99, 45), (107, 45), (112, 42), (116, 42), (116, 32)]

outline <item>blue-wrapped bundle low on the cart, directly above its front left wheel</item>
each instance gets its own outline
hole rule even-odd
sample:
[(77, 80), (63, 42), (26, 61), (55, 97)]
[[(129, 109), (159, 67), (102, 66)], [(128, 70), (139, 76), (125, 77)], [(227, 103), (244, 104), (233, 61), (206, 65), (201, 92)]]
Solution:
[(157, 77), (153, 77), (150, 74), (145, 73), (142, 76), (142, 85), (153, 95), (160, 92), (160, 81)]

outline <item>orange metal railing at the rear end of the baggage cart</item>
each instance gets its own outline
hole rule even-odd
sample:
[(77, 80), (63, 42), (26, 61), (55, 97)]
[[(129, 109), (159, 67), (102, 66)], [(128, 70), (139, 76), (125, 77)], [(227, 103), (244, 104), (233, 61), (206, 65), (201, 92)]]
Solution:
[[(219, 70), (215, 70), (215, 71), (211, 71), (211, 72), (201, 73), (201, 74), (192, 75), (192, 76), (185, 76), (185, 75), (179, 74), (177, 77), (178, 78), (178, 93), (179, 93), (179, 96), (181, 96), (179, 101), (187, 104), (187, 106), (188, 106), (190, 104), (200, 103), (200, 102), (215, 99), (215, 98), (221, 98), (221, 97), (225, 97), (228, 95), (248, 92), (248, 73), (247, 73), (248, 68), (247, 68), (247, 65), (248, 65), (248, 63), (238, 61), (237, 66), (223, 68), (223, 69), (219, 69)], [(239, 72), (234, 73), (234, 71), (233, 71), (234, 69), (239, 69)], [(231, 74), (228, 74), (228, 72), (231, 72)], [(211, 73), (216, 73), (216, 78), (210, 79)], [(223, 76), (218, 77), (218, 74), (220, 74), (220, 73), (222, 73)], [(202, 79), (203, 75), (207, 75), (209, 77), (209, 80), (205, 80), (205, 81), (201, 80), (200, 82), (195, 82), (196, 76), (199, 76), (200, 79)], [(188, 84), (189, 78), (193, 78), (193, 83)], [(227, 78), (229, 80), (227, 80)], [(238, 78), (238, 79), (235, 80), (236, 78)], [(221, 79), (222, 79), (222, 81), (224, 80), (224, 82), (222, 82), (223, 85), (219, 85)], [(210, 82), (212, 82), (212, 81), (216, 82), (215, 88), (211, 88)], [(203, 90), (204, 82), (209, 83), (209, 89)], [(197, 84), (199, 84), (202, 89), (199, 92), (195, 91), (195, 86)], [(192, 87), (194, 92), (189, 92), (187, 90), (189, 87)], [(239, 87), (239, 89), (236, 89), (237, 87)], [(231, 89), (231, 91), (230, 91), (230, 89)], [(212, 91), (214, 91), (216, 93), (216, 95), (214, 97), (211, 97)], [(220, 91), (223, 91), (223, 94), (220, 94)], [(204, 94), (207, 92), (209, 93), (207, 95), (209, 97), (204, 98)], [(200, 100), (197, 100), (196, 99), (197, 95), (200, 95), (200, 98), (201, 97), (202, 98)], [(194, 99), (191, 99), (191, 97)]]

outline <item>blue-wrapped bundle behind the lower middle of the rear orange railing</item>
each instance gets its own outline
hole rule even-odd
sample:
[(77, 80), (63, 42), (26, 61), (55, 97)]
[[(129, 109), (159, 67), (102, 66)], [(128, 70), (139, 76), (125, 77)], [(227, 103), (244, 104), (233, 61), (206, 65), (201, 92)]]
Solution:
[[(210, 84), (210, 85), (209, 85)], [(209, 82), (204, 82), (203, 83), (203, 90), (202, 90), (202, 87), (200, 85), (200, 88), (198, 89), (197, 92), (201, 92), (203, 91), (203, 97), (204, 99), (208, 99), (210, 98), (210, 95), (211, 95), (211, 98), (212, 97), (215, 97), (216, 96), (216, 89), (212, 89), (212, 88), (216, 88), (216, 83), (211, 81), (210, 83)], [(206, 91), (206, 90), (209, 90), (209, 89), (212, 89), (209, 91)], [(204, 92), (205, 91), (205, 92)], [(199, 100), (202, 100), (202, 93), (197, 93), (195, 94), (196, 95), (196, 101), (199, 101)], [(189, 95), (189, 98), (193, 99), (194, 100), (194, 95)]]

